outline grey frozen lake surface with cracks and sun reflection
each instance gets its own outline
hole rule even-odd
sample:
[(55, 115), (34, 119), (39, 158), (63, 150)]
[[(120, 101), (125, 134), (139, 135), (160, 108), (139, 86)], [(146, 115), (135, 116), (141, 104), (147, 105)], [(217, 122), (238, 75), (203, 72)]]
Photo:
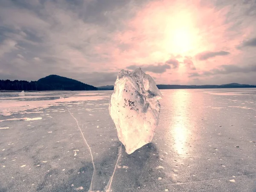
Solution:
[(161, 90), (154, 138), (130, 155), (111, 93), (0, 93), (0, 192), (256, 192), (256, 89)]

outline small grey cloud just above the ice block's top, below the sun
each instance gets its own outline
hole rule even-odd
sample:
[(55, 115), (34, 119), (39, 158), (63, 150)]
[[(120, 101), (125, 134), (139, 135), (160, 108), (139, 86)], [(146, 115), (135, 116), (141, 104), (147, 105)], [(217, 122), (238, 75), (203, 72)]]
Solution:
[(139, 67), (141, 67), (143, 71), (149, 71), (153, 73), (164, 73), (166, 72), (166, 69), (171, 69), (169, 64), (130, 65), (127, 67), (127, 69), (135, 70)]

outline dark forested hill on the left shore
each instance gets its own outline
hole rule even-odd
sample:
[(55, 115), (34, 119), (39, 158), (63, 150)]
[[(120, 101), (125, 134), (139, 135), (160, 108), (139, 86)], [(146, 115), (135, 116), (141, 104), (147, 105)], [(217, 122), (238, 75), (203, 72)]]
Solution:
[(49, 75), (38, 81), (0, 80), (0, 90), (98, 90), (89, 84), (67, 77)]

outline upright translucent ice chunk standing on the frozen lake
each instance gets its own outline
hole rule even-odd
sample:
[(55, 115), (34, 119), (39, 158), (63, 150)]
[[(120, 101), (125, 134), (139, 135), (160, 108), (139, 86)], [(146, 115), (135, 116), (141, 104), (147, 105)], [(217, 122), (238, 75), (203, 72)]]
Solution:
[(111, 95), (109, 113), (128, 154), (150, 143), (159, 122), (163, 96), (154, 79), (141, 68), (121, 70)]

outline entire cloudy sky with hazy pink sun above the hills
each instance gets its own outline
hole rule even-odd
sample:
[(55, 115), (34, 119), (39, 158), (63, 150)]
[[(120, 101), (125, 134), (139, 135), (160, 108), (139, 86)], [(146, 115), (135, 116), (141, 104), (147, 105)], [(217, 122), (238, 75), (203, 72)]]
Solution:
[(256, 0), (0, 0), (0, 79), (256, 84)]

